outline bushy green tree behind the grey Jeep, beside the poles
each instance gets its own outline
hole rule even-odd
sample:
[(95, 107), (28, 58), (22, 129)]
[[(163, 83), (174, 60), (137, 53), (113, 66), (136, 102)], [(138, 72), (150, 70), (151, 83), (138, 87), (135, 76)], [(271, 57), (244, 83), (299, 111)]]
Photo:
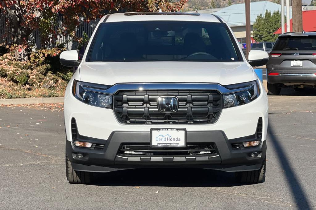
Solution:
[(253, 24), (253, 38), (257, 42), (274, 42), (278, 35), (273, 33), (279, 27), (281, 27), (281, 13), (277, 10), (271, 14), (266, 10), (264, 16), (258, 15)]

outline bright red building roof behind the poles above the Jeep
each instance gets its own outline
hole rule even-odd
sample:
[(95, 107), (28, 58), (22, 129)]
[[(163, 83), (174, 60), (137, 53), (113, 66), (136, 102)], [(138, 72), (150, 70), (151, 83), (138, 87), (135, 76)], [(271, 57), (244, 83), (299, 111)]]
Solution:
[[(303, 11), (302, 13), (302, 18), (303, 18), (303, 30), (305, 32), (310, 32), (310, 31), (316, 31), (316, 10), (307, 10)], [(290, 31), (293, 31), (293, 20), (290, 20)], [(286, 30), (286, 24), (285, 24), (285, 30)], [(282, 29), (279, 28), (274, 32), (274, 34), (281, 34)]]

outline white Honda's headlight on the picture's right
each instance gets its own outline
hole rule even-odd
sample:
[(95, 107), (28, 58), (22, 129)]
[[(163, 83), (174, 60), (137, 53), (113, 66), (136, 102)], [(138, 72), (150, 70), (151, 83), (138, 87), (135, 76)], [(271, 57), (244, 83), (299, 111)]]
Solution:
[(252, 102), (260, 95), (258, 80), (236, 85), (227, 85), (225, 87), (230, 90), (245, 87), (249, 87), (249, 89), (223, 95), (224, 108), (235, 107)]

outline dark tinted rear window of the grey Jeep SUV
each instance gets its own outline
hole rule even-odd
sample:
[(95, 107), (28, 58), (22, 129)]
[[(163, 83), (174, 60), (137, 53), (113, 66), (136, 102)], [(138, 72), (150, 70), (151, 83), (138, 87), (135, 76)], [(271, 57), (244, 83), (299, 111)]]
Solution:
[(316, 37), (281, 37), (272, 50), (316, 50)]

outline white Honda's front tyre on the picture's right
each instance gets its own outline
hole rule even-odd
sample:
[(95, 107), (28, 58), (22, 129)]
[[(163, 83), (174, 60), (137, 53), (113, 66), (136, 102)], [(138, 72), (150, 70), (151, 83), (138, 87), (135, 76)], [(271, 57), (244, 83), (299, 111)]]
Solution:
[(265, 181), (265, 160), (259, 170), (236, 172), (236, 181), (245, 184), (264, 183)]

